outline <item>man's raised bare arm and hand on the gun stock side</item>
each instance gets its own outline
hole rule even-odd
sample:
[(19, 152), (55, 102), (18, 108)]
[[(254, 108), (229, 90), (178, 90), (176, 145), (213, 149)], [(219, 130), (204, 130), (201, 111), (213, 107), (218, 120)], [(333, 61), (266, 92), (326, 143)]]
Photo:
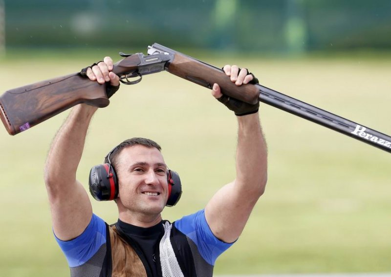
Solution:
[[(112, 70), (108, 57), (87, 77), (99, 83), (111, 81), (117, 86), (119, 78)], [(101, 79), (103, 78), (103, 79)], [(55, 136), (46, 159), (44, 180), (50, 202), (53, 230), (61, 240), (78, 237), (87, 228), (92, 217), (92, 206), (83, 185), (76, 179), (90, 120), (97, 110), (87, 104), (75, 106)]]

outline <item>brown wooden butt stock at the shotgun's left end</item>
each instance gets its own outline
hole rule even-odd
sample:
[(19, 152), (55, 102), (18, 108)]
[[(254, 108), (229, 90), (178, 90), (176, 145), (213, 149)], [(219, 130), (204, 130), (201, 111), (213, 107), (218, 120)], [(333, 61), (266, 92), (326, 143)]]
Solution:
[(12, 89), (0, 97), (0, 118), (15, 135), (79, 103), (106, 107), (106, 85), (75, 73)]

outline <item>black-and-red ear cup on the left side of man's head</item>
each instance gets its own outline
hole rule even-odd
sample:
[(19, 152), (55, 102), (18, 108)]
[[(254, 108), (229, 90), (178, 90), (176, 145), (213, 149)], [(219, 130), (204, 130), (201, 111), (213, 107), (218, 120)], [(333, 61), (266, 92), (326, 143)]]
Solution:
[(118, 197), (118, 182), (114, 168), (109, 163), (98, 164), (89, 172), (89, 192), (98, 201)]

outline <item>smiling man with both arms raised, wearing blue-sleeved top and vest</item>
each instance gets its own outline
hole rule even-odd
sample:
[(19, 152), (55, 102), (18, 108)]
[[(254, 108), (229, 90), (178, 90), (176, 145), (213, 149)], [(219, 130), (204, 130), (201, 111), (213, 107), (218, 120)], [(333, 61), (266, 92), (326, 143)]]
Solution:
[[(119, 78), (112, 68), (106, 57), (84, 73), (92, 81), (115, 87)], [(238, 86), (253, 79), (235, 65), (223, 70)], [(112, 173), (118, 178), (118, 222), (109, 226), (92, 213), (76, 170), (97, 108), (86, 104), (73, 108), (53, 140), (45, 166), (53, 231), (71, 276), (212, 276), (217, 256), (238, 239), (267, 179), (259, 104), (230, 99), (218, 84), (212, 95), (237, 115), (237, 176), (204, 210), (172, 224), (161, 218), (172, 180), (160, 146), (149, 139), (126, 140), (106, 157), (107, 178)]]

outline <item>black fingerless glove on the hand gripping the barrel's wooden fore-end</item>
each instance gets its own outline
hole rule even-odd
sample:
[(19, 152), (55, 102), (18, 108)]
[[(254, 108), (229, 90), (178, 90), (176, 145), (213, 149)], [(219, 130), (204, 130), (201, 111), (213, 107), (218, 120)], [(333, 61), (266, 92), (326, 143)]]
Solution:
[[(253, 76), (253, 79), (251, 81), (249, 81), (248, 83), (258, 84), (259, 83), (258, 78), (256, 78), (254, 76), (254, 74), (252, 74), (251, 72), (248, 72), (247, 68), (246, 68), (246, 70), (247, 70), (246, 75), (251, 74)], [(239, 68), (239, 72), (240, 72), (240, 68)], [(255, 114), (256, 112), (258, 112), (258, 110), (260, 108), (259, 102), (257, 102), (256, 104), (248, 104), (246, 102), (243, 102), (241, 100), (226, 96), (224, 94), (220, 98), (217, 98), (217, 100), (219, 102), (223, 103), (228, 109), (233, 111), (235, 113), (235, 115), (238, 117)]]

